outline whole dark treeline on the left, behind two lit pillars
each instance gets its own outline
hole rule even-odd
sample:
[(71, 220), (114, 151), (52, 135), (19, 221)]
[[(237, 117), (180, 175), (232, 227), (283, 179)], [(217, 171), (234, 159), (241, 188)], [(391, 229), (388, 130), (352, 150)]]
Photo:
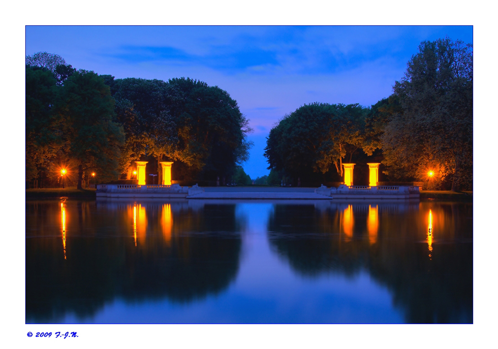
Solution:
[(28, 186), (56, 185), (63, 168), (79, 188), (94, 172), (100, 182), (131, 179), (139, 160), (159, 178), (159, 163), (173, 161), (173, 179), (229, 181), (248, 158), (249, 132), (237, 102), (217, 86), (115, 79), (76, 71), (55, 54), (26, 57)]

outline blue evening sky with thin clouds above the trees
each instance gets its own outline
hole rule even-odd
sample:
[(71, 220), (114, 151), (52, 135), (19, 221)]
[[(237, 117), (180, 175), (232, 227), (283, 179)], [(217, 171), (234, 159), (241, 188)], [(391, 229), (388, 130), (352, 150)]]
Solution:
[(303, 104), (370, 106), (424, 40), (473, 43), (472, 26), (26, 26), (26, 55), (56, 53), (116, 78), (190, 77), (228, 91), (254, 132), (243, 164), (268, 174), (266, 137)]

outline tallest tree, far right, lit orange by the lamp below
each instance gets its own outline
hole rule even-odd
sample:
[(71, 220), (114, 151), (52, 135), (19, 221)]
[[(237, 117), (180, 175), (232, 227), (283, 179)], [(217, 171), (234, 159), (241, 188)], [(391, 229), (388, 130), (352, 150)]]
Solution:
[(435, 171), (452, 190), (472, 182), (472, 45), (422, 42), (394, 94), (403, 112), (384, 128), (386, 165), (423, 179)]

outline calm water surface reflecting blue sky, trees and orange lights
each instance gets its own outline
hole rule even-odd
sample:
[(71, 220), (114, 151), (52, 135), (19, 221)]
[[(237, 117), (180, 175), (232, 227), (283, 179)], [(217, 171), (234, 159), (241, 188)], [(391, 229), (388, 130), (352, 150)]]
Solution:
[(26, 323), (472, 323), (473, 206), (26, 202)]

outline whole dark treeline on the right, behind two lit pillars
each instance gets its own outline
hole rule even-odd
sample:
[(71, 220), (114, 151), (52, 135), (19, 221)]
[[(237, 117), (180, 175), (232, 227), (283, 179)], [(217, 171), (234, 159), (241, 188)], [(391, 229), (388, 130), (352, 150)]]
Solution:
[(367, 184), (369, 162), (381, 163), (380, 181), (472, 189), (472, 45), (422, 42), (391, 96), (369, 108), (304, 105), (270, 131), (264, 155), (268, 184), (340, 182), (343, 163), (356, 163), (355, 184)]

